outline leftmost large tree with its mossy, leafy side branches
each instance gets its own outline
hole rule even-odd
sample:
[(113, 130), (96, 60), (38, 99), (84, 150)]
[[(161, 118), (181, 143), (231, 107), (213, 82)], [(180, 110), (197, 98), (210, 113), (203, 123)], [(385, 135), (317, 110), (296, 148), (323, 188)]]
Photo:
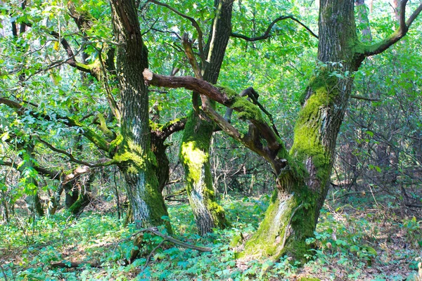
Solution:
[[(71, 18), (75, 20), (79, 32), (83, 35), (82, 41), (86, 41), (87, 32), (92, 32), (92, 26), (96, 18), (87, 13), (83, 8), (80, 8), (80, 6), (78, 7), (77, 4), (80, 5), (82, 3), (69, 1), (67, 8)], [(13, 4), (11, 5), (13, 7)], [(37, 5), (43, 4), (34, 2), (33, 5), (37, 7)], [(30, 118), (34, 124), (44, 124), (46, 130), (40, 130), (36, 133), (43, 135), (43, 138), (49, 138), (49, 133), (52, 131), (51, 123), (58, 127), (68, 127), (70, 130), (76, 129), (76, 135), (82, 134), (85, 136), (91, 142), (91, 145), (94, 145), (93, 148), (96, 148), (94, 151), (99, 153), (99, 155), (103, 155), (103, 159), (96, 164), (84, 162), (77, 159), (72, 153), (55, 148), (47, 141), (41, 143), (54, 152), (69, 157), (70, 161), (86, 164), (86, 166), (94, 167), (116, 164), (126, 178), (130, 206), (133, 209), (134, 220), (137, 225), (141, 227), (165, 224), (167, 230), (171, 231), (170, 223), (165, 219), (167, 210), (160, 190), (167, 179), (160, 178), (159, 186), (156, 175), (161, 176), (162, 174), (158, 169), (155, 169), (157, 164), (155, 155), (151, 150), (150, 135), (153, 134), (155, 137), (156, 143), (153, 149), (160, 154), (160, 160), (162, 160), (162, 154), (165, 150), (165, 138), (170, 136), (171, 133), (174, 133), (174, 131), (183, 129), (186, 120), (178, 119), (160, 126), (155, 124), (150, 128), (148, 93), (146, 87), (143, 85), (141, 74), (137, 71), (148, 66), (148, 51), (143, 46), (141, 38), (139, 20), (136, 15), (137, 6), (132, 1), (130, 3), (114, 1), (111, 2), (111, 7), (113, 11), (112, 22), (115, 30), (115, 38), (116, 41), (120, 41), (116, 47), (117, 79), (119, 80), (118, 85), (120, 86), (119, 96), (121, 96), (120, 103), (117, 103), (115, 100), (117, 96), (115, 91), (117, 90), (117, 79), (113, 78), (116, 74), (114, 67), (115, 47), (113, 45), (106, 48), (108, 51), (104, 53), (102, 52), (103, 47), (94, 48), (94, 50), (91, 49), (89, 54), (92, 55), (94, 53), (94, 56), (91, 56), (91, 60), (87, 63), (79, 63), (77, 61), (77, 55), (75, 55), (72, 49), (72, 45), (69, 44), (65, 36), (62, 36), (63, 34), (60, 34), (60, 32), (56, 32), (53, 26), (45, 27), (42, 16), (38, 14), (30, 16), (23, 9), (13, 10), (13, 13), (18, 13), (20, 21), (23, 22), (25, 27), (31, 27), (35, 33), (38, 32), (37, 35), (40, 36), (41, 40), (44, 39), (41, 34), (47, 37), (53, 37), (53, 39), (56, 39), (54, 48), (58, 50), (58, 44), (61, 44), (65, 53), (68, 55), (68, 58), (65, 60), (52, 63), (45, 70), (42, 69), (42, 65), (33, 65), (33, 68), (28, 67), (31, 71), (35, 69), (32, 74), (44, 73), (63, 63), (74, 67), (80, 72), (91, 74), (91, 77), (94, 77), (106, 90), (109, 110), (104, 111), (108, 115), (107, 119), (100, 112), (96, 115), (93, 122), (89, 124), (89, 122), (86, 122), (86, 119), (92, 117), (93, 114), (88, 112), (87, 115), (82, 117), (81, 115), (84, 114), (82, 113), (83, 107), (78, 107), (75, 103), (70, 105), (70, 112), (67, 108), (66, 110), (62, 109), (60, 112), (62, 113), (61, 115), (58, 114), (60, 110), (57, 110), (57, 108), (43, 108), (41, 105), (37, 105), (37, 103), (27, 102), (26, 97), (23, 98), (23, 103), (18, 103), (4, 96), (1, 97), (0, 103), (15, 110), (15, 113), (22, 116), (23, 119)], [(51, 11), (51, 7), (49, 8), (49, 11)], [(60, 18), (57, 20), (60, 20)], [(141, 45), (138, 46), (137, 44)], [(127, 46), (131, 47), (128, 52), (125, 50)], [(85, 47), (86, 45), (82, 43), (81, 50), (82, 53), (85, 53), (85, 55), (82, 55), (83, 60), (87, 58), (87, 48)], [(23, 58), (25, 58), (25, 55), (23, 55)], [(25, 63), (23, 62), (23, 67), (20, 70), (13, 70), (11, 73), (26, 73)], [(85, 78), (86, 76), (82, 75), (82, 79)], [(92, 80), (88, 84), (84, 84), (84, 86), (88, 89), (89, 87), (96, 89), (96, 83)], [(68, 98), (70, 97), (68, 96)], [(72, 98), (70, 100), (73, 101)], [(68, 106), (69, 104), (65, 105), (65, 107)], [(98, 110), (101, 111), (102, 109), (98, 108)], [(116, 123), (120, 126), (116, 127)], [(96, 126), (93, 127), (92, 125)], [(8, 130), (11, 129), (9, 126), (6, 126), (6, 128)], [(6, 131), (5, 133), (8, 132)], [(163, 177), (165, 177), (165, 174)]]

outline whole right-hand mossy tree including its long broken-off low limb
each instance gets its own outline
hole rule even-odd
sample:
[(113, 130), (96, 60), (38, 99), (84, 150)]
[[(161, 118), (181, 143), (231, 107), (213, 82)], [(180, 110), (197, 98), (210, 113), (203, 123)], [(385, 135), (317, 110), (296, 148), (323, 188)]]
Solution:
[[(363, 44), (357, 37), (354, 1), (321, 0), (319, 9), (319, 65), (301, 98), (290, 151), (262, 117), (260, 108), (229, 89), (219, 88), (192, 77), (168, 77), (145, 70), (146, 83), (156, 86), (184, 87), (198, 91), (236, 110), (238, 117), (251, 123), (248, 133), (240, 133), (218, 115), (203, 98), (202, 108), (220, 128), (246, 147), (267, 159), (276, 174), (276, 190), (271, 197), (264, 221), (246, 242), (243, 255), (283, 254), (302, 258), (313, 236), (319, 211), (324, 203), (335, 142), (352, 89), (353, 72), (363, 60), (382, 53), (409, 30), (422, 10), (416, 8), (405, 18), (407, 1), (401, 2), (397, 30), (381, 42)], [(252, 89), (249, 90), (250, 93)]]

